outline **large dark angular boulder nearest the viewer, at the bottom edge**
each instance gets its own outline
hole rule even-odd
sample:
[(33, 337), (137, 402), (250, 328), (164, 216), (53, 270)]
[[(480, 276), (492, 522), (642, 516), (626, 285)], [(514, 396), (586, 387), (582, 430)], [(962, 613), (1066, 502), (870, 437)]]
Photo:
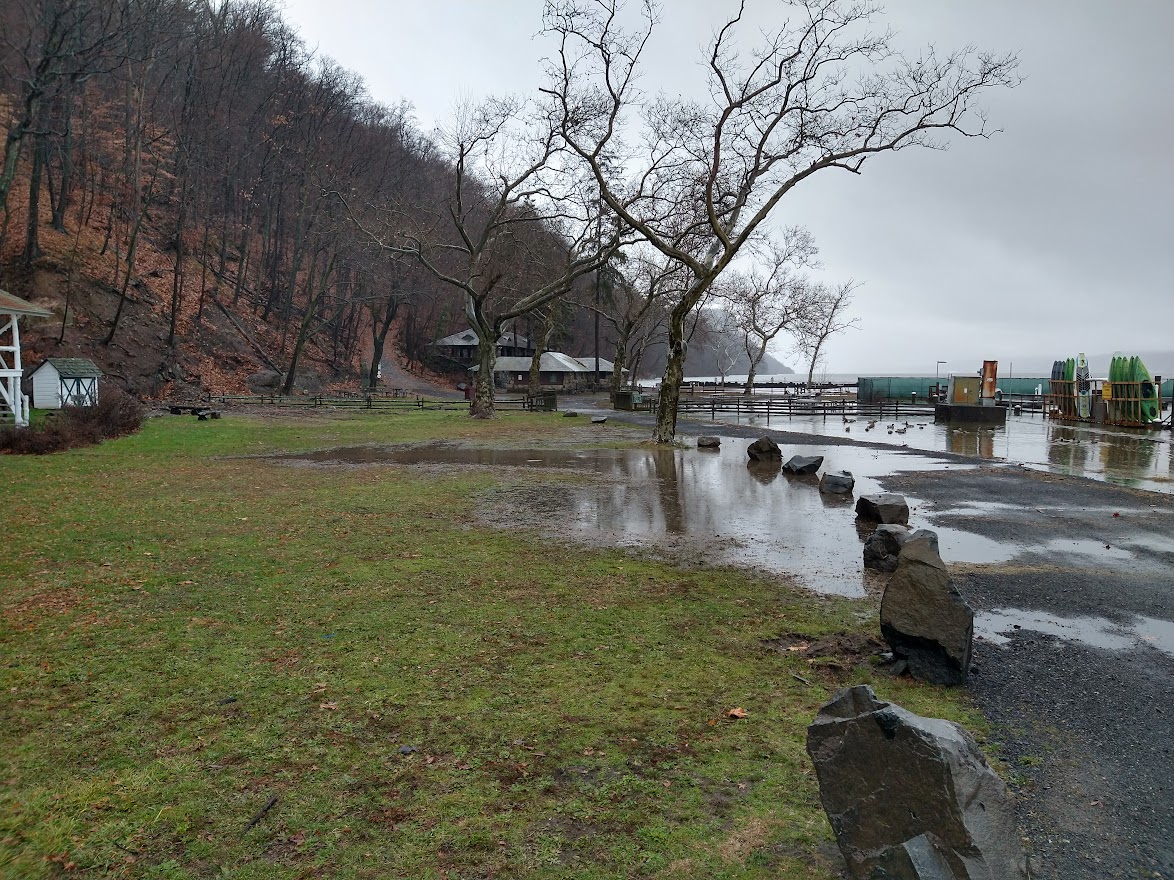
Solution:
[(1025, 880), (1006, 786), (960, 726), (839, 691), (808, 727), (819, 799), (853, 880)]

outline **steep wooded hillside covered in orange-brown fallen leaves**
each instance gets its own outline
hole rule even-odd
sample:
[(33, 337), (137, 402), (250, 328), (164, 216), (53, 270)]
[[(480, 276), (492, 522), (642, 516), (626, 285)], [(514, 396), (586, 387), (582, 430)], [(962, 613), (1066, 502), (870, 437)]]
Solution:
[(56, 314), (26, 324), (27, 363), (83, 354), (153, 397), (355, 387), (389, 338), (418, 360), (464, 325), (459, 292), (345, 205), (443, 237), (451, 161), (274, 4), (0, 16), (0, 287)]

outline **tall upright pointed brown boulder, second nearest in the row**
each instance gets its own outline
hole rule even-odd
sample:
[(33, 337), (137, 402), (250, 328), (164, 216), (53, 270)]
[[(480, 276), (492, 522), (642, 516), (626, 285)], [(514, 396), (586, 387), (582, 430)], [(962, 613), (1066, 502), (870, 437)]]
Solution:
[(970, 672), (974, 611), (938, 555), (935, 540), (910, 539), (880, 597), (880, 635), (915, 678), (963, 684)]

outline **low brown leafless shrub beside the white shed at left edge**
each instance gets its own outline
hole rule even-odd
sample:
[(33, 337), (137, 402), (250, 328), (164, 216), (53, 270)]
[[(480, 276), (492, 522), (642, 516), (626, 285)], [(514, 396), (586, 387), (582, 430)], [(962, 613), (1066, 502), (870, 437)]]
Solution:
[(123, 436), (143, 424), (143, 407), (135, 398), (106, 385), (97, 406), (66, 406), (38, 427), (7, 427), (0, 431), (0, 453), (45, 455), (102, 440)]

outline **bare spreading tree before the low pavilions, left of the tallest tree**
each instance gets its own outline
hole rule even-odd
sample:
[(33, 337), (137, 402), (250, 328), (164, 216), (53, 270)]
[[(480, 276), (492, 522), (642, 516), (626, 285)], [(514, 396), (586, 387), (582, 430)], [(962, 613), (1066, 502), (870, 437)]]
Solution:
[(501, 329), (565, 296), (607, 262), (619, 236), (598, 235), (594, 188), (566, 170), (548, 108), (512, 97), (466, 104), (443, 133), (443, 147), (452, 163), (445, 212), (426, 228), (389, 224), (385, 238), (369, 233), (464, 295), (478, 338), (470, 413), (492, 418)]

